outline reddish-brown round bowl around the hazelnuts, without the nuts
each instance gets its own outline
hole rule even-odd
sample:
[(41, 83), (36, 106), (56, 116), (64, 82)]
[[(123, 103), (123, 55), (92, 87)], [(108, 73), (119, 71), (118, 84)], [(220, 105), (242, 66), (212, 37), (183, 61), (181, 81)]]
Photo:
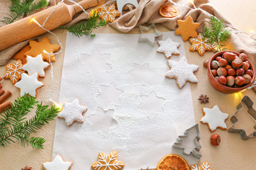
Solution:
[(233, 94), (233, 93), (238, 93), (244, 89), (247, 89), (248, 87), (252, 86), (252, 83), (255, 79), (255, 68), (252, 65), (252, 62), (250, 62), (250, 60), (248, 60), (248, 62), (250, 63), (250, 69), (252, 69), (252, 72), (254, 73), (252, 76), (252, 81), (250, 82), (250, 84), (247, 84), (245, 86), (241, 86), (241, 87), (229, 87), (229, 86), (225, 86), (223, 84), (220, 84), (214, 77), (212, 72), (210, 72), (210, 63), (215, 59), (215, 57), (218, 56), (222, 56), (224, 52), (233, 52), (236, 55), (240, 55), (239, 52), (234, 52), (234, 51), (221, 51), (221, 52), (217, 52), (215, 53), (212, 57), (210, 57), (210, 60), (208, 62), (208, 79), (210, 81), (210, 84), (214, 87), (214, 89), (216, 89), (217, 91), (220, 91), (223, 94)]

